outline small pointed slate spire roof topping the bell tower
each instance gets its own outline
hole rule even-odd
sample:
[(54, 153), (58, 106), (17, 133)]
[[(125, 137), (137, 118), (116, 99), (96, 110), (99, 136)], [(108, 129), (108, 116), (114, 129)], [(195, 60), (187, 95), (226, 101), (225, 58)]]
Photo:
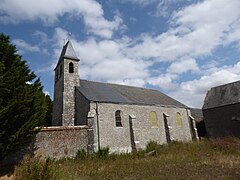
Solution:
[[(67, 58), (67, 59), (72, 59), (72, 60), (75, 60), (75, 61), (80, 61), (73, 49), (73, 46), (72, 46), (72, 43), (71, 41), (67, 41), (67, 43), (63, 46), (63, 49), (62, 49), (62, 52), (61, 52), (61, 55), (59, 57), (59, 60), (58, 60), (58, 63), (57, 63), (57, 66), (56, 68), (58, 67), (59, 63), (64, 59), (64, 58)], [(55, 69), (56, 69), (55, 68)], [(54, 70), (55, 70), (54, 69)]]

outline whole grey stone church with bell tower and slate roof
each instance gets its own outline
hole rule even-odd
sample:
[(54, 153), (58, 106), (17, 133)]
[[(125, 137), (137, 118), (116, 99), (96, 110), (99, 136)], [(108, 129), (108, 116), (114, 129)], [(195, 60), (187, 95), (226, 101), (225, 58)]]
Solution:
[(88, 128), (88, 150), (144, 149), (148, 142), (191, 141), (197, 137), (190, 109), (154, 89), (80, 79), (72, 43), (54, 69), (53, 126)]

